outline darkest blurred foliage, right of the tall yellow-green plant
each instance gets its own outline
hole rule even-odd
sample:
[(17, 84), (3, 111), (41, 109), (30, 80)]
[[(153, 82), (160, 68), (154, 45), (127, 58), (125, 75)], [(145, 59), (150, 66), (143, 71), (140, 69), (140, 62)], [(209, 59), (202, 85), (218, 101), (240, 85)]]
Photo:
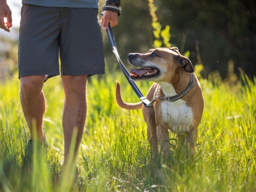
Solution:
[[(173, 26), (176, 34), (186, 35), (185, 48), (194, 51), (199, 41), (207, 73), (218, 70), (222, 77), (226, 76), (232, 59), (235, 72), (240, 66), (247, 74), (255, 75), (255, 1), (174, 0), (159, 1), (159, 7), (160, 13), (170, 13), (159, 15), (159, 20)], [(179, 43), (179, 35), (173, 40)]]

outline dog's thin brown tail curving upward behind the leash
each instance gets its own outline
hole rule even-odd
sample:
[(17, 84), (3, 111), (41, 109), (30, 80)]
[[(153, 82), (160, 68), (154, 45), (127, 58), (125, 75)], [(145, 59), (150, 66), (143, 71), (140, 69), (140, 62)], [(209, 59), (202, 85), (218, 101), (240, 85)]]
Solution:
[(116, 103), (119, 105), (119, 107), (124, 109), (141, 109), (142, 108), (142, 102), (138, 103), (126, 103), (121, 98), (121, 92), (120, 92), (120, 84), (116, 81)]

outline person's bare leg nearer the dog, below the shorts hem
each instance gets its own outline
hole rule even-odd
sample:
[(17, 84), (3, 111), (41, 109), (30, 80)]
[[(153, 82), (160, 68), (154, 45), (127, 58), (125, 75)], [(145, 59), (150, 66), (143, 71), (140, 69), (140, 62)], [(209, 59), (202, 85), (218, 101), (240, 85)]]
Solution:
[(77, 128), (75, 142), (74, 161), (82, 139), (86, 118), (86, 81), (87, 75), (61, 77), (65, 93), (65, 101), (62, 115), (62, 126), (64, 131), (64, 163), (68, 161), (72, 133)]

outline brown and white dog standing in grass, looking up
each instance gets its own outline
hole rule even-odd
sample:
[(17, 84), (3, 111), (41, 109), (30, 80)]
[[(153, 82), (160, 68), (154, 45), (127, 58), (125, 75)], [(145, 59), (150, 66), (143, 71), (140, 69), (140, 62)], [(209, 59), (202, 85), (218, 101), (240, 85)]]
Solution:
[[(120, 107), (142, 107), (144, 120), (148, 126), (148, 141), (153, 153), (158, 153), (159, 142), (163, 157), (167, 157), (170, 151), (170, 130), (177, 134), (179, 141), (186, 143), (190, 154), (193, 154), (197, 141), (197, 127), (204, 110), (204, 98), (191, 61), (181, 55), (177, 48), (150, 49), (146, 54), (130, 53), (128, 61), (139, 67), (131, 69), (132, 80), (155, 82), (146, 96), (150, 101), (157, 92), (162, 98), (180, 94), (190, 83), (191, 74), (193, 75), (194, 87), (185, 96), (173, 102), (159, 99), (151, 108), (144, 107), (141, 102), (125, 103), (121, 99), (120, 85), (117, 83), (116, 86), (116, 102)], [(158, 85), (161, 87), (158, 88)]]

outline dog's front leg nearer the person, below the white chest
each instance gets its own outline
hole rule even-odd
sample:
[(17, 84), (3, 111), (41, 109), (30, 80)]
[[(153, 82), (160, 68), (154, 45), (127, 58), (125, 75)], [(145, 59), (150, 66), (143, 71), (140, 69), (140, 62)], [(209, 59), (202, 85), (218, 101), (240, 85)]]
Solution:
[(160, 144), (160, 150), (163, 155), (163, 159), (167, 160), (170, 152), (169, 144), (169, 132), (167, 126), (157, 126), (157, 137)]

